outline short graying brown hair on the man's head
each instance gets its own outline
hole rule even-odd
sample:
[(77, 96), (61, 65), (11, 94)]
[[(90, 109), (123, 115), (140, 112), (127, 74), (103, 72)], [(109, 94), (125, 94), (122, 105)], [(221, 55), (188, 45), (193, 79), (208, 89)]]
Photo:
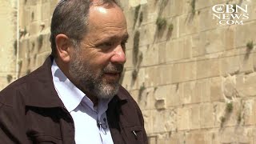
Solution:
[[(116, 3), (115, 0), (99, 0), (97, 5)], [(78, 46), (86, 34), (90, 6), (94, 0), (61, 0), (58, 2), (51, 18), (50, 43), (51, 54), (56, 58), (55, 38), (58, 34), (65, 34)], [(118, 5), (119, 6), (119, 5)]]

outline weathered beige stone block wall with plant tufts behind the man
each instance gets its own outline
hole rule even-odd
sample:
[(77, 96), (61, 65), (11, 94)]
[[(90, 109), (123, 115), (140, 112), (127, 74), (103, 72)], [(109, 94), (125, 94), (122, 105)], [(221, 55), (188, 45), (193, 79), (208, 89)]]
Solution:
[[(1, 41), (0, 58), (6, 60), (7, 50), (13, 60), (1, 62), (1, 82), (9, 72), (30, 73), (50, 54), (57, 2), (19, 1), (18, 56), (9, 58), (15, 37)], [(220, 3), (248, 5), (250, 18), (221, 26), (212, 15)], [(150, 144), (256, 143), (256, 2), (127, 0), (122, 6), (130, 33), (122, 86), (142, 109)], [(15, 26), (9, 31), (15, 35)]]

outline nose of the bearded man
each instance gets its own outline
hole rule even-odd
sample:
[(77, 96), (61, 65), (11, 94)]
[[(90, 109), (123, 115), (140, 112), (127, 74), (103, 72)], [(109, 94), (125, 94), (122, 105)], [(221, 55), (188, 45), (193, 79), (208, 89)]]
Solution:
[(119, 64), (124, 64), (126, 63), (126, 53), (125, 51), (122, 49), (121, 45), (118, 45), (115, 49), (114, 49), (114, 54), (110, 59), (111, 62), (113, 63), (119, 63)]

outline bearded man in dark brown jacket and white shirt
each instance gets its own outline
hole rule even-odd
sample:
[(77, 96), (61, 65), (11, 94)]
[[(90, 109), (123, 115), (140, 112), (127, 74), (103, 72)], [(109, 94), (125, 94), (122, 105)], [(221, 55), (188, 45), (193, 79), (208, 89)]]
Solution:
[(52, 54), (0, 92), (0, 143), (147, 143), (142, 113), (118, 84), (126, 18), (113, 0), (62, 0)]

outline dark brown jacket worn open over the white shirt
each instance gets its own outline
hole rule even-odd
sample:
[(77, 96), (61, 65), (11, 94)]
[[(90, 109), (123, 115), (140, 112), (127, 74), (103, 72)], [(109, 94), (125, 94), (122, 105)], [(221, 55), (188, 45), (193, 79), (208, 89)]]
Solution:
[[(47, 58), (0, 92), (0, 144), (75, 143), (74, 122), (54, 89), (51, 65)], [(141, 110), (123, 87), (106, 114), (114, 143), (147, 143)]]

